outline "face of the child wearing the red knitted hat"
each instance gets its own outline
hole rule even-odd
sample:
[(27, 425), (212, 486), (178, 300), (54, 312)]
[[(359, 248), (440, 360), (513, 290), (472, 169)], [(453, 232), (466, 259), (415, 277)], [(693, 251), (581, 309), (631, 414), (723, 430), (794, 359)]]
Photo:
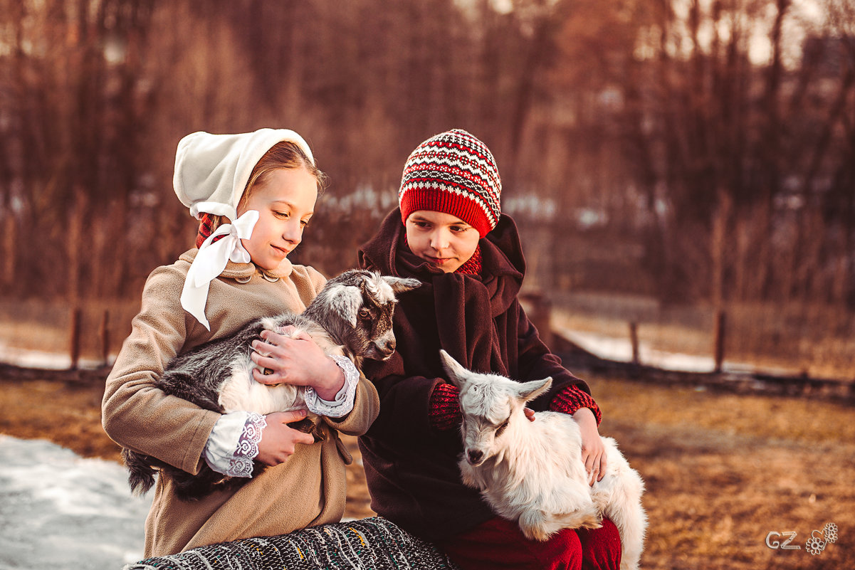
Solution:
[(423, 260), (452, 273), (475, 254), (478, 230), (451, 214), (416, 210), (407, 216), (407, 244)]

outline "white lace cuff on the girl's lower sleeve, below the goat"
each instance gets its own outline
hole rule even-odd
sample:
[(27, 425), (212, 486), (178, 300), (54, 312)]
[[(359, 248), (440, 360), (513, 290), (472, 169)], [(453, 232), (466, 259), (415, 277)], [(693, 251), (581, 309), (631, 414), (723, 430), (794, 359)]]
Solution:
[(267, 420), (255, 412), (223, 414), (205, 444), (204, 458), (217, 473), (230, 477), (252, 477), (252, 460)]

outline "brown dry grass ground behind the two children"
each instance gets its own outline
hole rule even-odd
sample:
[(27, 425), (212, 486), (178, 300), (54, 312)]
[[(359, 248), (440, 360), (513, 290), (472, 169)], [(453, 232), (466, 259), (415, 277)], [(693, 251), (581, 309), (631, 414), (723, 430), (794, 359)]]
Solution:
[[(855, 408), (588, 380), (603, 409), (600, 432), (617, 439), (646, 481), (642, 567), (855, 567)], [(102, 391), (0, 379), (0, 432), (119, 461), (100, 425)], [(357, 461), (347, 515), (369, 516), (356, 443), (348, 444)], [(811, 555), (805, 543), (827, 523), (837, 526), (837, 540)], [(796, 535), (788, 546), (799, 549), (769, 548), (789, 532)]]

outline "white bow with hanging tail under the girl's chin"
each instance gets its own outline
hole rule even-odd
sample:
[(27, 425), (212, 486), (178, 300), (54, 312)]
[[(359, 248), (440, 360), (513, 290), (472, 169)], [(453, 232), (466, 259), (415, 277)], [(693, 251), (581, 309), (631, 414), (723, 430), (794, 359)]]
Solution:
[[(257, 221), (258, 212), (251, 209), (233, 223), (216, 228), (205, 239), (196, 254), (196, 259), (187, 271), (184, 290), (181, 291), (181, 306), (208, 330), (211, 330), (211, 327), (205, 317), (205, 304), (208, 301), (210, 282), (222, 273), (229, 260), (235, 263), (250, 262), (250, 252), (244, 248), (240, 240), (250, 238)], [(225, 237), (215, 242), (214, 239), (218, 236)]]

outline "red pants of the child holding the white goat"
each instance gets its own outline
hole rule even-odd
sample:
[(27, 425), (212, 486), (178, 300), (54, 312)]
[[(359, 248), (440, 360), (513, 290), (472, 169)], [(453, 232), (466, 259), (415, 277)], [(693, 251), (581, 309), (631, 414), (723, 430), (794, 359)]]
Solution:
[(621, 538), (610, 520), (603, 520), (602, 528), (564, 529), (539, 542), (525, 538), (516, 523), (496, 517), (436, 545), (462, 570), (617, 570), (621, 565)]

